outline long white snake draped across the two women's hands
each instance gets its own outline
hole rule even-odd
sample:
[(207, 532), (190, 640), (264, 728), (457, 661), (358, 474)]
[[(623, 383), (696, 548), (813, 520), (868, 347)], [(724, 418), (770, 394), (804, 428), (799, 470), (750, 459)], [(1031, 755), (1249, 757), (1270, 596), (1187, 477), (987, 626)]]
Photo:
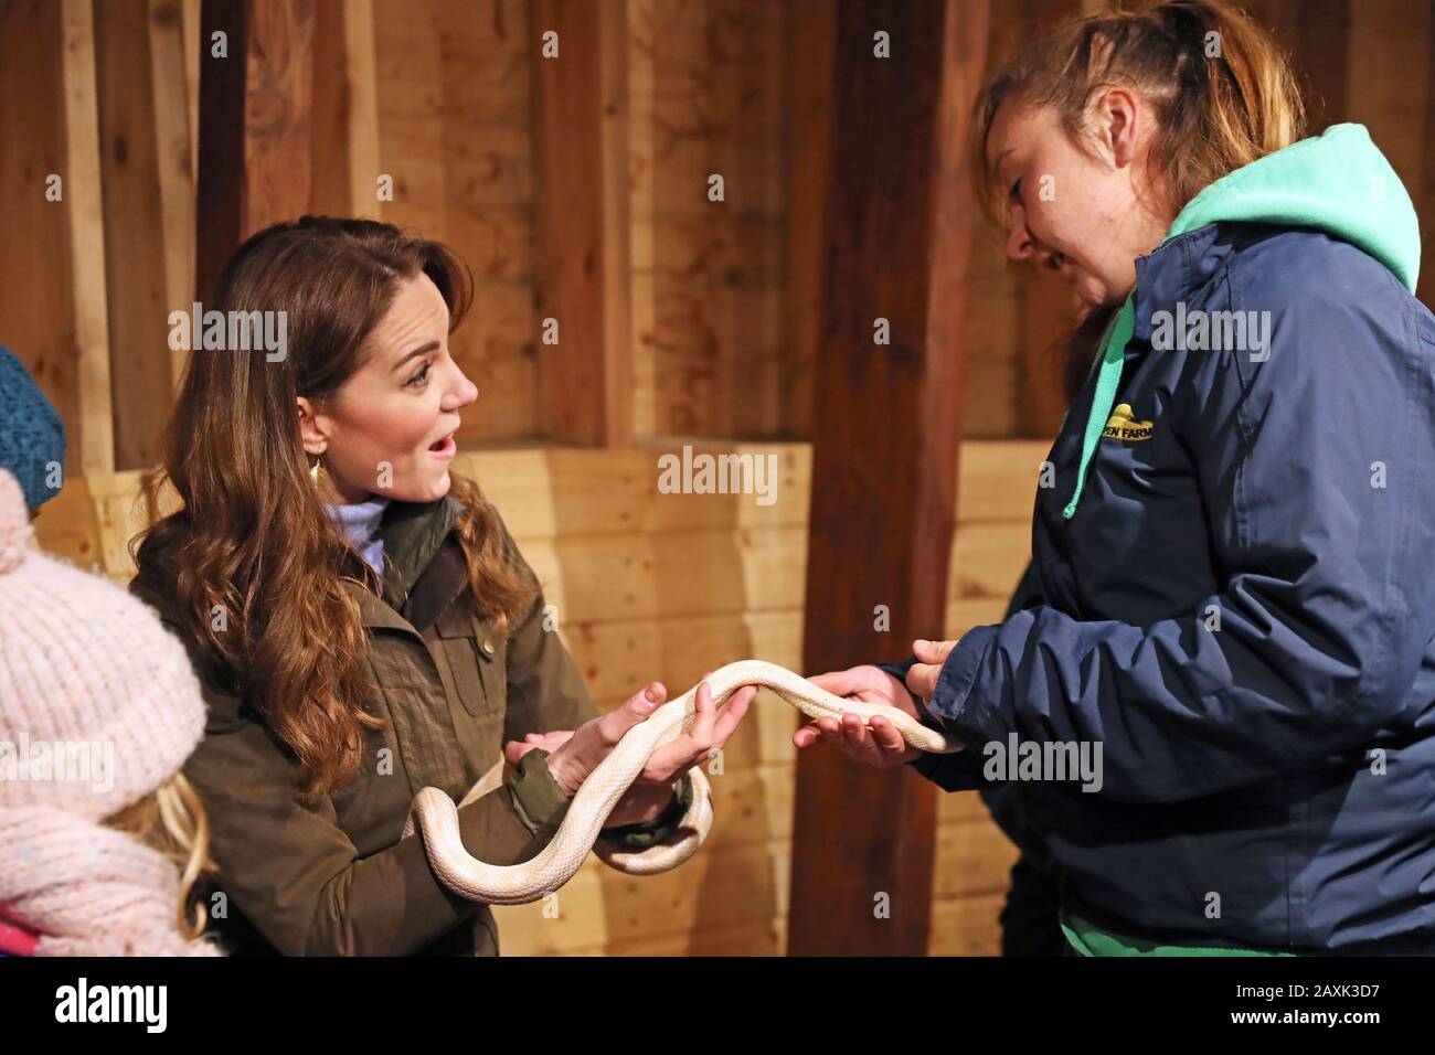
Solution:
[[(808, 718), (857, 715), (871, 719), (874, 715), (881, 715), (914, 748), (933, 754), (960, 749), (960, 744), (954, 739), (921, 725), (897, 708), (834, 696), (775, 663), (755, 659), (729, 663), (715, 670), (706, 680), (715, 708), (726, 703), (728, 698), (742, 686), (759, 685), (772, 689)], [(683, 815), (677, 833), (664, 843), (643, 851), (621, 851), (601, 843), (598, 834), (629, 785), (643, 772), (649, 756), (692, 729), (696, 718), (697, 686), (693, 686), (629, 729), (578, 788), (568, 805), (567, 817), (548, 845), (522, 864), (502, 867), (472, 857), (459, 838), (458, 807), (438, 788), (423, 788), (413, 797), (403, 834), (409, 835), (418, 827), (423, 835), (429, 864), (443, 884), (462, 897), (488, 904), (524, 904), (540, 900), (573, 878), (590, 850), (594, 850), (606, 864), (631, 876), (667, 871), (692, 857), (712, 828), (712, 788), (702, 772), (702, 765), (689, 769), (693, 779), (693, 802)], [(484, 794), (485, 785), (492, 787), (492, 781), (489, 778), (479, 781), (464, 797), (464, 804)]]

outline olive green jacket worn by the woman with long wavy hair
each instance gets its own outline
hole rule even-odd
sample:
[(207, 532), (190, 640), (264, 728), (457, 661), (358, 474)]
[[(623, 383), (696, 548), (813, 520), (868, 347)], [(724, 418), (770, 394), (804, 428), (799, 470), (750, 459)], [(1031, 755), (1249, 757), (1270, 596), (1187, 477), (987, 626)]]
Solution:
[[(210, 715), (184, 772), (210, 815), (215, 888), (224, 894), (210, 899), (211, 914), (232, 952), (498, 953), (488, 906), (451, 894), (429, 868), (422, 838), (400, 838), (409, 802), (429, 785), (458, 802), (501, 759), (507, 741), (574, 729), (597, 711), (558, 634), (544, 626), (541, 591), (507, 636), (472, 614), (452, 534), (461, 510), (452, 497), (392, 501), (379, 528), (383, 596), (363, 587), (362, 576), (346, 580), (369, 639), (366, 673), (377, 686), (366, 706), (383, 728), (369, 735), (359, 775), (337, 792), (303, 802), (287, 746), (195, 662)], [(504, 538), (537, 589), (507, 531)], [(357, 567), (357, 554), (353, 560)], [(132, 590), (177, 629), (171, 597), (138, 580)], [(570, 800), (544, 758), (530, 752), (502, 787), (459, 810), (471, 854), (515, 864), (547, 845)], [(660, 841), (690, 797), (684, 778), (654, 821), (604, 837), (630, 848)]]

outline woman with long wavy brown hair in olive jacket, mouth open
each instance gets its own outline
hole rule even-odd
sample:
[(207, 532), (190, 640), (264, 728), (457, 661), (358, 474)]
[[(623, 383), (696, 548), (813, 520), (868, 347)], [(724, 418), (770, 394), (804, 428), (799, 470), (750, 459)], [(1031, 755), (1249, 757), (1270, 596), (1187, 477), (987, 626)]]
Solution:
[[(451, 475), (478, 395), (448, 347), (468, 306), (442, 244), (304, 217), (241, 245), (208, 306), (267, 319), (281, 346), (191, 353), (149, 481), (152, 500), (168, 481), (181, 507), (136, 540), (132, 589), (205, 688), (185, 775), (208, 810), (225, 896), (211, 903), (234, 952), (497, 953), (488, 907), (451, 894), (422, 841), (400, 838), (412, 797), (459, 801), (507, 761), (459, 827), (481, 860), (528, 860), (664, 699), (654, 682), (596, 715), (498, 512)], [(686, 771), (752, 695), (719, 716), (700, 692), (692, 733), (649, 761), (606, 838), (664, 838), (690, 801)]]

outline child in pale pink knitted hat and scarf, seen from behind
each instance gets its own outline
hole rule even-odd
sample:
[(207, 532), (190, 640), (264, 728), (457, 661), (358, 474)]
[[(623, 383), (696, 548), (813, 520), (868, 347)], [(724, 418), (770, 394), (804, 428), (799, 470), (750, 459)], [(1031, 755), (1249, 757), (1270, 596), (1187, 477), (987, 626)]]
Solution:
[(0, 953), (218, 955), (189, 896), (210, 866), (184, 646), (29, 520), (0, 469)]

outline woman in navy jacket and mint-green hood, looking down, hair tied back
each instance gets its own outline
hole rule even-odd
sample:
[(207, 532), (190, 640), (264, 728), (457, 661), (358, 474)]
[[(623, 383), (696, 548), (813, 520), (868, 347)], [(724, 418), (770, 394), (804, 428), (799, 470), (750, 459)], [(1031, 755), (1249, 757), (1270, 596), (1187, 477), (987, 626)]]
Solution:
[(796, 733), (1016, 777), (1085, 955), (1435, 952), (1435, 317), (1399, 178), (1359, 125), (1300, 141), (1292, 85), (1200, 1), (983, 89), (1010, 255), (1111, 314), (1038, 487), (1043, 603), (817, 679), (964, 752)]

